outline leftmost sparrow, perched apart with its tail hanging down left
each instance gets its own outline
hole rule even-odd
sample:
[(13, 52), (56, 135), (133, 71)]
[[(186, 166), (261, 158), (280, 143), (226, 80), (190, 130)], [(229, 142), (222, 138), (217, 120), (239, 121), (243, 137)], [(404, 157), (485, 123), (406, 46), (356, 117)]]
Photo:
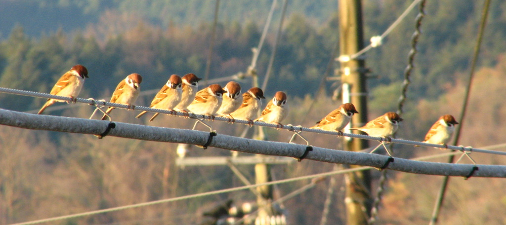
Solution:
[[(85, 77), (88, 77), (88, 70), (82, 65), (75, 65), (70, 68), (63, 76), (58, 79), (55, 86), (51, 89), (51, 95), (70, 97), (72, 102), (81, 92), (82, 85), (85, 83)], [(48, 99), (46, 104), (40, 108), (37, 114), (42, 114), (44, 110), (56, 102), (65, 102), (63, 100)]]

